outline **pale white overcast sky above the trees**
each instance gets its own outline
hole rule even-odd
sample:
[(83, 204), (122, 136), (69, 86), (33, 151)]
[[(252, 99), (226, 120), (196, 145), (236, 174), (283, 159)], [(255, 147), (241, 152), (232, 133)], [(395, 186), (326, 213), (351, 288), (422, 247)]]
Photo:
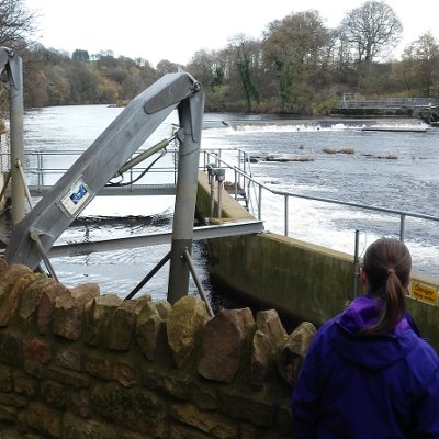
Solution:
[[(237, 34), (260, 38), (267, 25), (292, 12), (315, 9), (336, 27), (364, 0), (24, 0), (38, 15), (40, 41), (47, 48), (161, 59), (185, 65), (200, 49), (224, 48)], [(386, 0), (404, 26), (395, 50), (431, 31), (439, 38), (439, 1)]]

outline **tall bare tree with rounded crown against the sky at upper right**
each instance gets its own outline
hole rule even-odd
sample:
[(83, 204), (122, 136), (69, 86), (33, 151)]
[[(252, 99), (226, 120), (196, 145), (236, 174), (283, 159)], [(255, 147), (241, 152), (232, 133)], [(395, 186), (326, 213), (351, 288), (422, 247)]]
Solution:
[(403, 25), (383, 1), (367, 1), (341, 22), (341, 34), (352, 46), (358, 63), (371, 63), (401, 40)]

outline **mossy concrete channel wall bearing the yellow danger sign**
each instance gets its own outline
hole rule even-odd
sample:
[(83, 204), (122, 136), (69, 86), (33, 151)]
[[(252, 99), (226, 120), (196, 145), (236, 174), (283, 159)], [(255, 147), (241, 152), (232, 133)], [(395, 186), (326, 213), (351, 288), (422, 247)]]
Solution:
[[(209, 216), (209, 182), (200, 172), (198, 214)], [(225, 192), (222, 217), (248, 218), (249, 213)], [(273, 307), (294, 320), (319, 326), (353, 297), (354, 267), (349, 255), (273, 233), (210, 239), (207, 245), (211, 274), (230, 293)], [(423, 336), (439, 351), (438, 285), (437, 279), (413, 273), (407, 307)]]

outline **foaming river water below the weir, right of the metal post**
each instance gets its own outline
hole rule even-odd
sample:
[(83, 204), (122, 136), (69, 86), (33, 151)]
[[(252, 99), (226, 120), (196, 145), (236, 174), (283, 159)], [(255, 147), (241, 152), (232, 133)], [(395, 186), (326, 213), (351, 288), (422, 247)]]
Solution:
[[(252, 155), (258, 160), (251, 164), (252, 176), (273, 190), (439, 217), (439, 130), (367, 130), (378, 123), (384, 122), (239, 121), (206, 131), (203, 139)], [(385, 124), (389, 130), (425, 128), (417, 120)], [(262, 199), (266, 228), (282, 234), (283, 198)], [(289, 236), (351, 255), (356, 229), (360, 252), (380, 236), (399, 234), (399, 215), (303, 199), (290, 199), (289, 210)], [(407, 217), (405, 241), (415, 269), (438, 277), (439, 223)]]

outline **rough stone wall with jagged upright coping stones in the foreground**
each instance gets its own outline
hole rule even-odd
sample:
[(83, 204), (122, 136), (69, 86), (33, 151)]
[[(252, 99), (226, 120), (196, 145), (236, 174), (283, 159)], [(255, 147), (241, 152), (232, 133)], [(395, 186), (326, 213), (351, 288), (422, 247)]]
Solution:
[(291, 438), (315, 328), (274, 311), (123, 301), (0, 259), (2, 439)]

